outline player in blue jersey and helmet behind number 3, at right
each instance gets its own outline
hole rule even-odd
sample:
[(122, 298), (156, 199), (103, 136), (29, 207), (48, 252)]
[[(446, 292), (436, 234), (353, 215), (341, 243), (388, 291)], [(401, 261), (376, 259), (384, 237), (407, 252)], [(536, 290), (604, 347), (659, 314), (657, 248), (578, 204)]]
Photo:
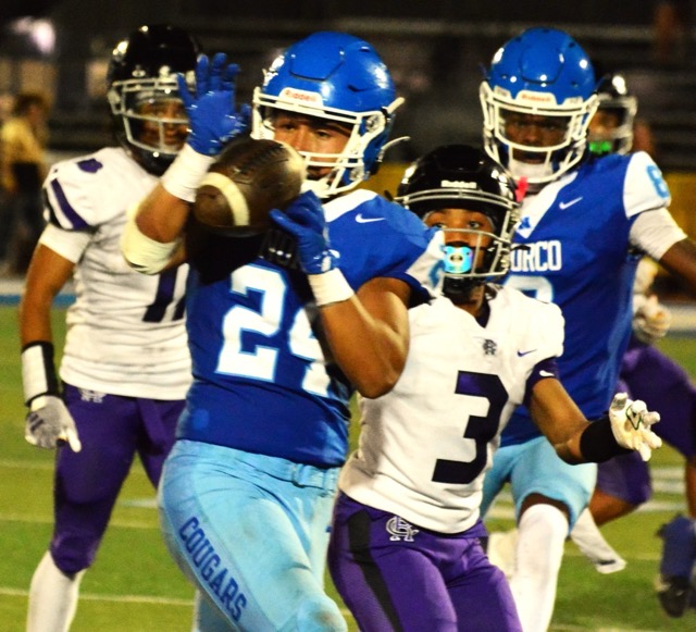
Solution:
[[(696, 287), (696, 245), (667, 210), (670, 193), (651, 158), (587, 151), (595, 89), (587, 54), (554, 28), (506, 42), (481, 85), (485, 149), (527, 187), (507, 283), (561, 308), (560, 375), (588, 419), (607, 410), (617, 385), (636, 252)], [(525, 630), (549, 624), (563, 543), (596, 473), (563, 463), (529, 410), (512, 416), (486, 474), (484, 509), (510, 481), (519, 528), (511, 586)]]

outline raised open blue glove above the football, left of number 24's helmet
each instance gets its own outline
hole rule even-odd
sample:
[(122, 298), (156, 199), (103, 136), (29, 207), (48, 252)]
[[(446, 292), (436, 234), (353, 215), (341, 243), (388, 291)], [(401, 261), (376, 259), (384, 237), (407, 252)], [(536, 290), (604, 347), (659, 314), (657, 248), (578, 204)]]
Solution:
[(251, 108), (235, 107), (237, 64), (216, 53), (212, 61), (201, 55), (196, 64), (196, 92), (191, 95), (184, 75), (177, 76), (179, 94), (189, 119), (187, 142), (198, 153), (217, 156), (224, 145), (249, 128)]

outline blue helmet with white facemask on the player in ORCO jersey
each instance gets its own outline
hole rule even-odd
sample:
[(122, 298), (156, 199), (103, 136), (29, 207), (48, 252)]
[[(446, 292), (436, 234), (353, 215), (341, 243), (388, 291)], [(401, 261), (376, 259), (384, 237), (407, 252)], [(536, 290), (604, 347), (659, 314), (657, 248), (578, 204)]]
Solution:
[[(597, 107), (595, 85), (589, 58), (567, 33), (530, 28), (510, 39), (495, 53), (481, 84), (486, 152), (531, 185), (557, 179), (585, 153), (587, 126)], [(563, 138), (551, 147), (513, 142), (506, 134), (509, 113), (556, 119)], [(514, 159), (513, 150), (539, 154), (543, 161), (525, 164)]]

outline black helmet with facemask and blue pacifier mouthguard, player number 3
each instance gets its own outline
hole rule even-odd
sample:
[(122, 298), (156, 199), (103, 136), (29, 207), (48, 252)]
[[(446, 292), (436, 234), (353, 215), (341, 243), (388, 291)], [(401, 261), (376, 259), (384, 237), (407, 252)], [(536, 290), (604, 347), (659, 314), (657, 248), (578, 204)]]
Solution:
[[(485, 214), (493, 232), (472, 228), (445, 232), (444, 294), (455, 302), (471, 289), (499, 281), (510, 268), (512, 236), (519, 221), (514, 181), (480, 149), (445, 145), (413, 162), (403, 174), (395, 201), (421, 219), (443, 209), (465, 209)], [(470, 245), (448, 241), (447, 233), (473, 235)], [(473, 245), (471, 245), (473, 244)], [(480, 258), (480, 251), (484, 255)], [(473, 263), (482, 261), (477, 268)]]

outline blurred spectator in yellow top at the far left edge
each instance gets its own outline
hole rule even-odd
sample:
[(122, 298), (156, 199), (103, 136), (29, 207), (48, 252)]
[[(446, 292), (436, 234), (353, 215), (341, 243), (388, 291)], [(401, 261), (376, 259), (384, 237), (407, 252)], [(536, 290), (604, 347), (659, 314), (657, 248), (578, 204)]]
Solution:
[(0, 265), (3, 273), (26, 271), (44, 220), (41, 184), (47, 174), (49, 101), (40, 92), (20, 92), (0, 131)]

